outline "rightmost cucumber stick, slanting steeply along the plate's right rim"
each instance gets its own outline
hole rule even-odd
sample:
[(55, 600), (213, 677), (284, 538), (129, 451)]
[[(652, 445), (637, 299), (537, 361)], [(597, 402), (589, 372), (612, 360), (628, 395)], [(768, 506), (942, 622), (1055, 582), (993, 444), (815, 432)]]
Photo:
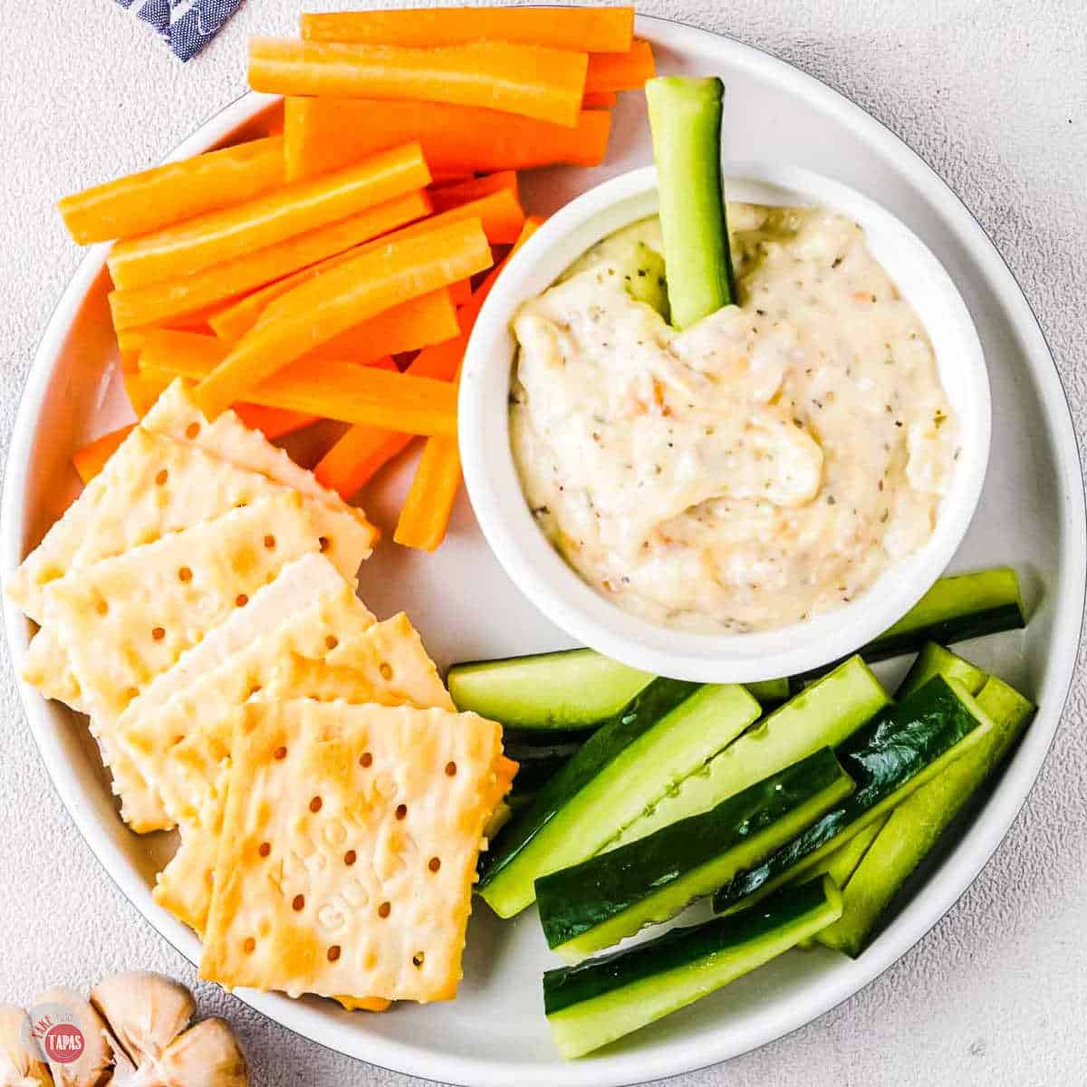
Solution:
[(819, 934), (819, 942), (851, 958), (867, 947), (902, 885), (1003, 762), (1035, 709), (997, 678), (990, 678), (982, 688), (977, 703), (995, 727), (980, 744), (891, 812), (861, 863), (842, 885), (841, 917)]

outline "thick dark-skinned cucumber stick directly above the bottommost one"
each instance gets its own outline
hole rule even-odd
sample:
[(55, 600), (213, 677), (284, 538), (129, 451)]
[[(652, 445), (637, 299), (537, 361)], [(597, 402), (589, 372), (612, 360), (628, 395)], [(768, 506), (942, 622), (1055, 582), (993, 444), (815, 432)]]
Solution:
[(676, 916), (753, 867), (853, 790), (829, 748), (701, 815), (536, 880), (548, 946), (566, 962)]

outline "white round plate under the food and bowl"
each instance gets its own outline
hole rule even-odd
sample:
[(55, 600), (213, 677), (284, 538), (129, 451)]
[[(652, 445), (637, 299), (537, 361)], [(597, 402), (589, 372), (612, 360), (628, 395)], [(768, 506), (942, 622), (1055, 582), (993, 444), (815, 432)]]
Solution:
[[(548, 1035), (540, 974), (555, 964), (534, 911), (501, 923), (482, 903), (468, 932), (455, 1001), (384, 1015), (328, 1001), (246, 991), (254, 1008), (343, 1053), (473, 1087), (609, 1087), (725, 1060), (792, 1030), (879, 975), (932, 927), (977, 875), (1026, 798), (1049, 749), (1072, 677), (1084, 604), (1083, 480), (1067, 403), (1041, 332), (999, 253), (946, 185), (891, 133), (848, 100), (748, 46), (641, 18), (664, 73), (717, 73), (728, 88), (726, 153), (796, 163), (836, 177), (890, 209), (933, 249), (962, 292), (986, 351), (994, 401), (992, 457), (974, 524), (954, 560), (969, 570), (1012, 563), (1032, 616), (1023, 634), (979, 639), (966, 654), (1027, 691), (1039, 713), (985, 807), (921, 873), (909, 905), (855, 962), (826, 949), (789, 953), (597, 1057), (563, 1063)], [(188, 155), (235, 134), (266, 99), (249, 96), (178, 148)], [(550, 212), (605, 177), (650, 161), (640, 96), (615, 113), (608, 164), (526, 176), (528, 208)], [(124, 421), (107, 375), (115, 360), (97, 247), (68, 286), (41, 342), (7, 467), (0, 571), (10, 573), (77, 489), (68, 463), (83, 440)], [(395, 522), (412, 458), (364, 496), (378, 524)], [(569, 645), (502, 573), (462, 499), (434, 555), (384, 542), (362, 572), (378, 614), (404, 609), (440, 665)], [(16, 666), (25, 620), (5, 604)], [(152, 902), (168, 836), (140, 838), (116, 816), (86, 729), (55, 703), (23, 691), (34, 736), (72, 817), (136, 908), (193, 961), (195, 937)]]

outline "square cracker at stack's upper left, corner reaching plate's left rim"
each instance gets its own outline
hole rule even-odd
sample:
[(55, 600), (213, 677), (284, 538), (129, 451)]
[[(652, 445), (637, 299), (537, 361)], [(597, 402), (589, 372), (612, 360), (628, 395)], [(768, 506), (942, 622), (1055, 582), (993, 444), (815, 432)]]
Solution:
[[(263, 437), (253, 436), (264, 442)], [(41, 623), (46, 586), (68, 571), (284, 493), (287, 487), (249, 466), (222, 460), (193, 441), (175, 441), (136, 427), (26, 557), (10, 578), (8, 594)], [(346, 578), (353, 579), (359, 564), (371, 554), (375, 530), (346, 507), (334, 509), (313, 496), (304, 496), (303, 502), (327, 558)]]

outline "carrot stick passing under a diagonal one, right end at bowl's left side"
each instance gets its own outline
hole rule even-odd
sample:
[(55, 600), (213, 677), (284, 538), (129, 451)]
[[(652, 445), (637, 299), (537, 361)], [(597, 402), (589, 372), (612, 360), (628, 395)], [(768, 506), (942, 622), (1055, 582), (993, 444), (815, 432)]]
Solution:
[[(199, 382), (222, 365), (228, 350), (214, 336), (159, 329), (140, 352), (140, 376)], [(248, 388), (245, 400), (409, 434), (457, 434), (457, 388), (449, 382), (352, 362), (299, 360)]]

